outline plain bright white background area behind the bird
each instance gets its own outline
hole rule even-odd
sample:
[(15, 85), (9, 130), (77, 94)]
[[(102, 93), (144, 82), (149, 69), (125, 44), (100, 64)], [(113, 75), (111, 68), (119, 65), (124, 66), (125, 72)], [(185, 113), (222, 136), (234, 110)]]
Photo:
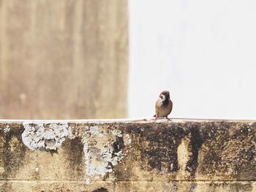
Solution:
[(256, 119), (256, 1), (129, 0), (129, 118)]

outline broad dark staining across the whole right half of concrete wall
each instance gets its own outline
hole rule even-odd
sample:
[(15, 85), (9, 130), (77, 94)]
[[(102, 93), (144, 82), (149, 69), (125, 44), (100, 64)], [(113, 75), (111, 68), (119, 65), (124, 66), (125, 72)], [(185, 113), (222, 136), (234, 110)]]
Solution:
[[(231, 170), (230, 174), (236, 174), (238, 178), (247, 173), (252, 178), (256, 177), (256, 168), (252, 169), (252, 164), (256, 164), (253, 145), (256, 143), (253, 137), (256, 128), (248, 126), (248, 123), (152, 123), (141, 124), (140, 127), (127, 125), (124, 130), (132, 137), (132, 150), (129, 150), (129, 154), (136, 154), (134, 160), (138, 161), (139, 153), (141, 169), (146, 171), (157, 169), (159, 172), (177, 172), (178, 145), (181, 139), (188, 137), (191, 155), (186, 170), (190, 176), (195, 177), (195, 173), (200, 172), (226, 177), (224, 173)], [(239, 147), (241, 145), (243, 147)], [(200, 159), (198, 169), (199, 152), (203, 158)]]

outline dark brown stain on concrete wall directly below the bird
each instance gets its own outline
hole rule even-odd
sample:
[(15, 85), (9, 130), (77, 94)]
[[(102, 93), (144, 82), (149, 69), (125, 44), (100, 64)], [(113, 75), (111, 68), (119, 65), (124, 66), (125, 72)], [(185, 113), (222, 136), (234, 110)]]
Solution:
[(142, 169), (157, 169), (160, 172), (178, 170), (177, 149), (187, 134), (181, 124), (155, 123), (152, 126), (141, 125), (140, 128), (129, 127), (127, 130), (130, 135), (139, 137), (132, 138), (132, 147), (140, 150)]

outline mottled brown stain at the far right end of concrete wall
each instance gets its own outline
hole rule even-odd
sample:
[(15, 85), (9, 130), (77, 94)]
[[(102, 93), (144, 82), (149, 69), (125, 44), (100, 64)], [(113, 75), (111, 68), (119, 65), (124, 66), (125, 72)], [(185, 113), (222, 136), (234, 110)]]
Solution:
[(226, 179), (256, 177), (255, 124), (200, 123), (200, 167), (197, 172)]

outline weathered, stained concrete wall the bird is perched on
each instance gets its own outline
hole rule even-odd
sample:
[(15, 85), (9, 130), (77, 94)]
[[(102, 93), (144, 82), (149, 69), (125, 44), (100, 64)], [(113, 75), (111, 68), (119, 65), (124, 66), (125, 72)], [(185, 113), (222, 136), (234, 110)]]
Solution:
[(0, 123), (0, 191), (256, 191), (255, 165), (256, 121)]

